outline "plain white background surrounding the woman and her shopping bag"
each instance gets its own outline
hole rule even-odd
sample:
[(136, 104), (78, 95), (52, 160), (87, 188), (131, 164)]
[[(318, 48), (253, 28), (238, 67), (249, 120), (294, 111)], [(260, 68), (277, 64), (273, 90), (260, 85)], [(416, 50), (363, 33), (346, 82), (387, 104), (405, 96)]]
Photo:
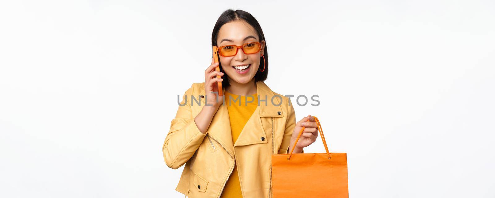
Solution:
[(12, 0), (0, 197), (183, 197), (161, 147), (228, 8), (261, 24), (273, 91), (320, 96), (297, 120), (347, 152), (351, 198), (495, 196), (494, 1)]

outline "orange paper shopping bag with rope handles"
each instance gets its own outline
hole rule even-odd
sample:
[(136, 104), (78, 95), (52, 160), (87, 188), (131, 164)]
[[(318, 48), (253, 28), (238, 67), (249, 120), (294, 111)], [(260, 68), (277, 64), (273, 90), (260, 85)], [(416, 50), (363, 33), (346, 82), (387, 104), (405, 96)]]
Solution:
[(302, 127), (290, 154), (272, 154), (273, 198), (348, 198), (347, 153), (328, 152), (318, 118), (326, 153), (292, 153), (305, 127)]

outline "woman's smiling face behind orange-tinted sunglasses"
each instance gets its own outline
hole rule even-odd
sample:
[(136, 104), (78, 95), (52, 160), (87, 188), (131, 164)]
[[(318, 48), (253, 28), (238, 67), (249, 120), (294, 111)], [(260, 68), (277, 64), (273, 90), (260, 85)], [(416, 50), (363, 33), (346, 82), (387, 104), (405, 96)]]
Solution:
[[(217, 46), (243, 46), (248, 42), (261, 43), (257, 53), (245, 54), (243, 49), (237, 49), (235, 56), (220, 56), (223, 71), (228, 75), (229, 82), (246, 84), (250, 82), (259, 68), (259, 61), (265, 49), (265, 41), (259, 41), (254, 28), (245, 21), (232, 21), (224, 24), (218, 31)], [(233, 82), (234, 81), (234, 82)]]

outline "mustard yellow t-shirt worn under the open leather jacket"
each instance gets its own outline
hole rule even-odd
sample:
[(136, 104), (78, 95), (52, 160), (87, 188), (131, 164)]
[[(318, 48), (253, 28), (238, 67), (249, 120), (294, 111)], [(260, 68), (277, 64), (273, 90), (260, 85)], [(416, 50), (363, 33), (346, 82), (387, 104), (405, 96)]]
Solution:
[[(232, 131), (232, 143), (235, 144), (237, 138), (241, 134), (241, 131), (246, 125), (247, 120), (249, 120), (252, 113), (258, 106), (258, 95), (252, 94), (248, 96), (239, 96), (228, 92), (225, 92), (224, 94), (225, 94), (225, 105), (227, 105), (227, 109), (229, 111), (230, 129)], [(252, 96), (252, 98), (249, 96)], [(231, 97), (232, 99), (230, 99), (229, 97)], [(237, 101), (235, 101), (236, 99)], [(246, 105), (246, 100), (248, 101), (252, 100), (252, 102), (248, 102)], [(234, 167), (234, 171), (232, 171), (232, 174), (227, 180), (227, 184), (225, 184), (225, 188), (223, 189), (221, 198), (242, 198), (242, 197), (243, 195), (241, 192), (241, 184), (239, 183), (239, 174), (237, 173), (237, 163), (236, 163), (236, 167)]]

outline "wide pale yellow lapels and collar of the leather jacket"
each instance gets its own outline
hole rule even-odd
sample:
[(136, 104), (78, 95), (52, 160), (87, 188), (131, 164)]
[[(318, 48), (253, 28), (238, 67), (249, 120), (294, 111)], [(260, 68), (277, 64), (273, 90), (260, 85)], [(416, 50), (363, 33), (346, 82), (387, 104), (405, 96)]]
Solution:
[[(203, 83), (204, 86), (204, 83)], [(208, 135), (210, 135), (215, 140), (219, 141), (220, 144), (225, 146), (225, 148), (230, 152), (233, 152), (234, 146), (246, 146), (252, 144), (263, 144), (268, 143), (267, 133), (265, 132), (265, 127), (263, 127), (262, 123), (265, 126), (271, 129), (270, 119), (262, 119), (263, 117), (284, 117), (282, 112), (282, 97), (277, 96), (274, 97), (275, 94), (272, 90), (261, 81), (256, 82), (256, 90), (259, 97), (259, 105), (254, 110), (253, 114), (247, 121), (245, 127), (241, 131), (239, 138), (237, 139), (235, 145), (232, 143), (232, 131), (230, 128), (230, 118), (229, 112), (227, 110), (227, 105), (225, 104), (225, 100), (218, 107), (217, 112), (213, 116), (211, 120), (211, 124), (208, 128)], [(223, 88), (223, 92), (225, 93), (225, 87)], [(201, 96), (204, 96), (204, 89), (201, 89)], [(224, 97), (225, 98), (225, 97)], [(205, 99), (200, 98), (201, 105), (205, 104)], [(266, 100), (266, 102), (265, 102)], [(273, 101), (273, 102), (272, 102)], [(280, 114), (279, 114), (280, 112)], [(269, 131), (269, 136), (271, 136), (271, 131)], [(261, 140), (261, 137), (264, 140)]]

